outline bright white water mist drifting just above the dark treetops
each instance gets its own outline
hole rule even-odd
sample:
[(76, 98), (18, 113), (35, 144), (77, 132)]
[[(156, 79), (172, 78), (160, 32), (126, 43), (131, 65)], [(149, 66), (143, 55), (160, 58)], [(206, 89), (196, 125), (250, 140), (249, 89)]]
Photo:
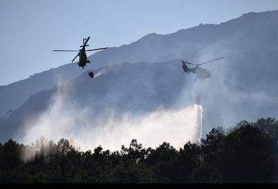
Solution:
[[(137, 139), (145, 147), (158, 147), (164, 141), (177, 149), (188, 141), (199, 139), (197, 105), (179, 109), (160, 107), (147, 114), (117, 114), (113, 109), (94, 116), (92, 107), (80, 107), (67, 100), (70, 88), (60, 88), (46, 111), (34, 120), (26, 120), (22, 143), (30, 144), (40, 136), (59, 141), (73, 139), (81, 150), (101, 145), (107, 150), (120, 150)], [(30, 126), (31, 125), (31, 126)], [(27, 127), (27, 126), (26, 126)]]

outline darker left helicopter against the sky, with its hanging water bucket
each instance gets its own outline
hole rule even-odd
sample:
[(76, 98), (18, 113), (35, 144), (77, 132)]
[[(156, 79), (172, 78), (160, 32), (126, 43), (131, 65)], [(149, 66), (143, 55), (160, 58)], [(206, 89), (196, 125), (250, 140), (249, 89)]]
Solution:
[[(104, 47), (104, 48), (94, 48), (94, 49), (89, 49), (89, 50), (86, 50), (85, 49), (85, 46), (89, 46), (87, 43), (90, 39), (90, 36), (88, 38), (84, 38), (83, 39), (83, 45), (81, 45), (81, 49), (79, 51), (71, 51), (71, 50), (53, 50), (53, 51), (63, 51), (63, 52), (79, 52), (75, 57), (74, 59), (72, 60), (72, 62), (74, 62), (74, 60), (76, 59), (76, 57), (79, 56), (79, 62), (77, 63), (79, 65), (79, 67), (82, 67), (82, 69), (84, 69), (84, 66), (86, 66), (87, 63), (90, 64), (90, 60), (88, 60), (88, 57), (86, 55), (86, 51), (98, 51), (98, 50), (103, 50), (103, 49), (106, 49), (108, 47)], [(93, 78), (93, 73), (90, 72), (90, 77)]]

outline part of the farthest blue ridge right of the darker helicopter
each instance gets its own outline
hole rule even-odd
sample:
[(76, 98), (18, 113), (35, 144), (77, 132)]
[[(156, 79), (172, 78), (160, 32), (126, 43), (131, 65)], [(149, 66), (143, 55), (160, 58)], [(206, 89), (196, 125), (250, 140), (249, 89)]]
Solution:
[[(206, 62), (225, 56), (225, 74), (236, 84), (256, 89), (276, 84), (278, 66), (278, 10), (247, 13), (222, 24), (200, 24), (169, 35), (146, 35), (129, 45), (99, 52), (90, 60), (95, 65), (120, 62), (161, 62), (177, 58)], [(265, 72), (270, 74), (265, 74)], [(274, 92), (274, 91), (273, 91)], [(277, 94), (277, 91), (275, 91)]]

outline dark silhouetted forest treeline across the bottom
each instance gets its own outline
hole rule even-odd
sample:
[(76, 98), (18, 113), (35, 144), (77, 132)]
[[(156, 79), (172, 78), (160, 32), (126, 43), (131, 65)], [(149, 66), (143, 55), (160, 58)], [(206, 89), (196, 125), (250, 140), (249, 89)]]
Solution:
[[(174, 136), (173, 136), (174, 137)], [(133, 139), (122, 150), (79, 152), (66, 139), (43, 136), (22, 145), (0, 143), (1, 183), (277, 183), (278, 122), (243, 120), (213, 128), (201, 143), (156, 149)]]

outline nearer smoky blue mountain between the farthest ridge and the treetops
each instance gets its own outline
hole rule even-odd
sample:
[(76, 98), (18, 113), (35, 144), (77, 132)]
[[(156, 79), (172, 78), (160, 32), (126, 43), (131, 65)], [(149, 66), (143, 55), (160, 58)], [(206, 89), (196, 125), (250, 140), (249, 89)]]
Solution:
[[(147, 116), (159, 109), (175, 112), (194, 105), (197, 95), (202, 97), (204, 132), (218, 125), (231, 126), (242, 119), (254, 121), (278, 114), (278, 98), (268, 92), (241, 89), (218, 73), (204, 82), (195, 82), (193, 73), (182, 72), (180, 60), (122, 63), (93, 71), (96, 78), (83, 73), (67, 84), (31, 96), (0, 122), (1, 141), (22, 138), (34, 125), (48, 129), (66, 127), (68, 132), (79, 133), (84, 127), (106, 125), (115, 118), (122, 124), (126, 114)], [(254, 87), (257, 84), (253, 82)], [(183, 123), (190, 120), (188, 116), (196, 115), (184, 114)]]

